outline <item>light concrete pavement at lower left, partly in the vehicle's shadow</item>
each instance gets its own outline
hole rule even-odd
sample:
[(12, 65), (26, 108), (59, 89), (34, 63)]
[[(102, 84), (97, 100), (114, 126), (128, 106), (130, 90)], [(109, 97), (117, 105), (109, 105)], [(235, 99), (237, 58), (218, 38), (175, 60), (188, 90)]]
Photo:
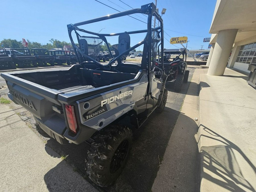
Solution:
[(1, 191), (97, 191), (0, 104)]

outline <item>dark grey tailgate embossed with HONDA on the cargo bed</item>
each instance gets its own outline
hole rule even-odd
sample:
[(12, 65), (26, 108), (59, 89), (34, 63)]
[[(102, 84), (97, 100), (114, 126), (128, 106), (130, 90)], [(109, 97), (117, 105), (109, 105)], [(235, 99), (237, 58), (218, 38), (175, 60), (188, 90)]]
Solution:
[(9, 98), (38, 118), (50, 115), (49, 110), (52, 110), (52, 105), (61, 106), (57, 96), (62, 92), (58, 90), (50, 89), (7, 73), (1, 73), (1, 77), (6, 80), (10, 90)]

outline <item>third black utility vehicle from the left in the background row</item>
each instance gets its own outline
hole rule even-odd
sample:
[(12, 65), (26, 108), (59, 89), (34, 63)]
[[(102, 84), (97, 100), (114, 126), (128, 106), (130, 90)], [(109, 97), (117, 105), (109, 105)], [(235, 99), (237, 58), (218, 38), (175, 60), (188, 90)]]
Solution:
[(31, 54), (36, 57), (36, 62), (39, 67), (47, 65), (47, 63), (54, 66), (54, 57), (49, 55), (49, 51), (47, 49), (31, 49)]

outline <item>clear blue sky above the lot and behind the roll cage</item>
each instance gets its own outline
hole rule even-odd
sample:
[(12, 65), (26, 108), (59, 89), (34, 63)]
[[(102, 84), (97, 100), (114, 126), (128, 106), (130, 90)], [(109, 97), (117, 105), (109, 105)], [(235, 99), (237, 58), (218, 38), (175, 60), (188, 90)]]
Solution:
[[(152, 0), (98, 0), (119, 11), (140, 8), (141, 5), (152, 2)], [(155, 3), (155, 1), (153, 1)], [(115, 4), (116, 5), (115, 5)], [(13, 4), (13, 5), (11, 5)], [(212, 21), (216, 0), (157, 0), (157, 7), (161, 12), (166, 8), (164, 20), (164, 36), (170, 40), (171, 37), (187, 36), (188, 49), (208, 48), (208, 43), (203, 43), (204, 37), (210, 37), (209, 28)], [(119, 7), (120, 6), (120, 7)], [(121, 8), (122, 7), (122, 8)], [(70, 42), (67, 33), (67, 24), (77, 23), (117, 11), (106, 7), (94, 0), (68, 1), (68, 0), (14, 0), (1, 2), (0, 40), (22, 38), (30, 41), (49, 43), (51, 38)], [(134, 16), (146, 22), (143, 15)], [(80, 26), (86, 30), (101, 33), (115, 33), (146, 29), (146, 24), (129, 16), (107, 20), (104, 22)], [(174, 32), (175, 31), (175, 32)], [(182, 34), (184, 33), (184, 34)], [(187, 35), (186, 35), (187, 34)], [(169, 36), (168, 36), (169, 35)], [(144, 34), (131, 35), (131, 46), (143, 40)], [(108, 39), (111, 44), (116, 44), (117, 39)], [(177, 47), (181, 45), (176, 44)], [(176, 48), (167, 40), (164, 48)]]

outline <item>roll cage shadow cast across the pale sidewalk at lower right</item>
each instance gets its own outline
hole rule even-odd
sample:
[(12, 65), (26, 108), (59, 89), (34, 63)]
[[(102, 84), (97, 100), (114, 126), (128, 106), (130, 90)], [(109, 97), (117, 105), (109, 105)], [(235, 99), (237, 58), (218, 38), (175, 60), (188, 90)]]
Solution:
[[(237, 145), (225, 139), (218, 133), (205, 127), (204, 125), (200, 126), (203, 126), (203, 130), (212, 136), (201, 135), (199, 140), (201, 137), (207, 137), (220, 142), (219, 145), (201, 147), (201, 178), (207, 179), (208, 181), (211, 181), (230, 191), (244, 191), (244, 189), (255, 191), (252, 183), (250, 183), (250, 181), (244, 177), (243, 173), (246, 171), (254, 173), (255, 175), (256, 168), (243, 153), (243, 151)], [(240, 163), (236, 157), (240, 157)], [(241, 160), (243, 165), (248, 165), (247, 167), (249, 167), (251, 170), (242, 171), (239, 165), (241, 164)], [(243, 188), (240, 186), (243, 186)]]

